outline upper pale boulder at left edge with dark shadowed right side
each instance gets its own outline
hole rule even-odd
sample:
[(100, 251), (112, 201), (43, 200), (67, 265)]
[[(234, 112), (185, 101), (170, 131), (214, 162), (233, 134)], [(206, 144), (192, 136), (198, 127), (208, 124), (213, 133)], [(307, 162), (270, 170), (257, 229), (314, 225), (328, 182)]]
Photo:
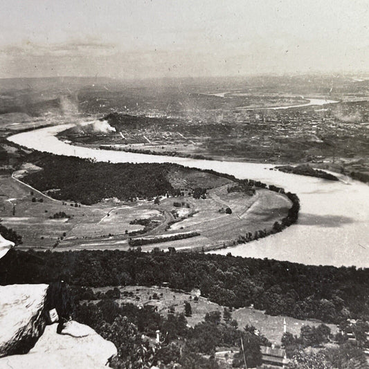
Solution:
[(48, 321), (47, 291), (48, 285), (0, 286), (0, 357), (33, 348)]

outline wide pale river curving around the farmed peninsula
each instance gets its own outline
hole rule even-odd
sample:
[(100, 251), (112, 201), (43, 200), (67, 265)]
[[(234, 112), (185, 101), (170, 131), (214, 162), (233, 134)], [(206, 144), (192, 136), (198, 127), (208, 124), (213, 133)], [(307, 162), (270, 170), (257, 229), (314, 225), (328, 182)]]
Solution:
[(300, 198), (298, 223), (262, 240), (214, 253), (289, 260), (303, 264), (369, 267), (369, 186), (358, 181), (325, 181), (270, 170), (273, 165), (206, 161), (172, 156), (96, 150), (66, 144), (55, 134), (73, 125), (58, 125), (10, 136), (8, 140), (52, 154), (112, 163), (179, 163), (213, 169), (244, 179), (258, 179), (294, 192)]

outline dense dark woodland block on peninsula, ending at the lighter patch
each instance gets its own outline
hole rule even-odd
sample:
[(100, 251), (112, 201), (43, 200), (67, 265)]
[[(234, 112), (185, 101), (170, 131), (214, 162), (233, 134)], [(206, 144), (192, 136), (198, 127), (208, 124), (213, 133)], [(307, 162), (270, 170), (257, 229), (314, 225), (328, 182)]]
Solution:
[(122, 201), (136, 197), (156, 197), (174, 191), (166, 175), (171, 164), (100, 163), (52, 154), (33, 153), (26, 161), (43, 168), (28, 174), (24, 181), (46, 191), (58, 188), (53, 197), (81, 204), (96, 204), (116, 197)]

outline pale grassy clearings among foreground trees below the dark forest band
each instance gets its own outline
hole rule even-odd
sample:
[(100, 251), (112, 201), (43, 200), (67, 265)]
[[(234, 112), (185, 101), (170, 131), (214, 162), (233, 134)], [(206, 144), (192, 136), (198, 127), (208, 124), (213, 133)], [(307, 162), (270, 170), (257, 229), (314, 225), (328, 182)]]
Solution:
[[(93, 289), (94, 291), (106, 292), (111, 287), (102, 287)], [(126, 286), (119, 287), (120, 299), (116, 300), (118, 303), (132, 303), (134, 305), (154, 305), (158, 312), (164, 316), (168, 315), (170, 307), (174, 307), (176, 313), (184, 312), (184, 303), (188, 301), (191, 305), (192, 316), (186, 317), (188, 324), (194, 326), (200, 321), (204, 320), (204, 316), (208, 312), (219, 310), (222, 313), (224, 307), (212, 303), (207, 298), (199, 296), (199, 290), (191, 291), (190, 293), (183, 293), (172, 291), (166, 287), (143, 287), (143, 286)], [(153, 298), (154, 296), (154, 298)], [(157, 296), (157, 297), (156, 297)], [(195, 301), (195, 296), (198, 300)], [(316, 321), (302, 321), (288, 316), (271, 316), (264, 314), (264, 312), (256, 309), (243, 307), (232, 312), (232, 318), (235, 319), (240, 328), (245, 325), (253, 325), (272, 343), (280, 344), (283, 334), (283, 319), (287, 323), (287, 331), (292, 334), (299, 335), (302, 325), (315, 326), (320, 323)], [(336, 325), (329, 325), (332, 332), (337, 332)]]

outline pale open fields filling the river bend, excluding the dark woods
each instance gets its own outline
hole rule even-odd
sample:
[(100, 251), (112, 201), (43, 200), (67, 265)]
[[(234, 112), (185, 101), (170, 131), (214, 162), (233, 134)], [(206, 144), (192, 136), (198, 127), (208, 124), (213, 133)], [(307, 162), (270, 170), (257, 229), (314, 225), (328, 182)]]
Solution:
[[(228, 193), (229, 179), (197, 170), (170, 170), (168, 178), (183, 196), (161, 197), (159, 204), (151, 200), (124, 202), (107, 199), (85, 206), (71, 201), (58, 201), (21, 181), (21, 174), (39, 170), (24, 165), (16, 178), (3, 175), (0, 183), (0, 219), (3, 225), (23, 236), (23, 249), (129, 249), (130, 237), (157, 237), (157, 242), (142, 246), (168, 249), (212, 249), (237, 242), (239, 235), (269, 230), (274, 222), (287, 215), (291, 206), (285, 195), (257, 190), (253, 196), (244, 192)], [(194, 188), (208, 188), (206, 199), (192, 197)], [(231, 208), (232, 214), (225, 213)], [(50, 219), (64, 212), (67, 218)], [(149, 219), (145, 228), (143, 219)], [(141, 221), (138, 224), (137, 220)], [(136, 222), (135, 222), (136, 221)], [(144, 232), (143, 232), (144, 231)], [(143, 232), (142, 234), (134, 234)], [(163, 236), (199, 233), (196, 237), (161, 242)]]

